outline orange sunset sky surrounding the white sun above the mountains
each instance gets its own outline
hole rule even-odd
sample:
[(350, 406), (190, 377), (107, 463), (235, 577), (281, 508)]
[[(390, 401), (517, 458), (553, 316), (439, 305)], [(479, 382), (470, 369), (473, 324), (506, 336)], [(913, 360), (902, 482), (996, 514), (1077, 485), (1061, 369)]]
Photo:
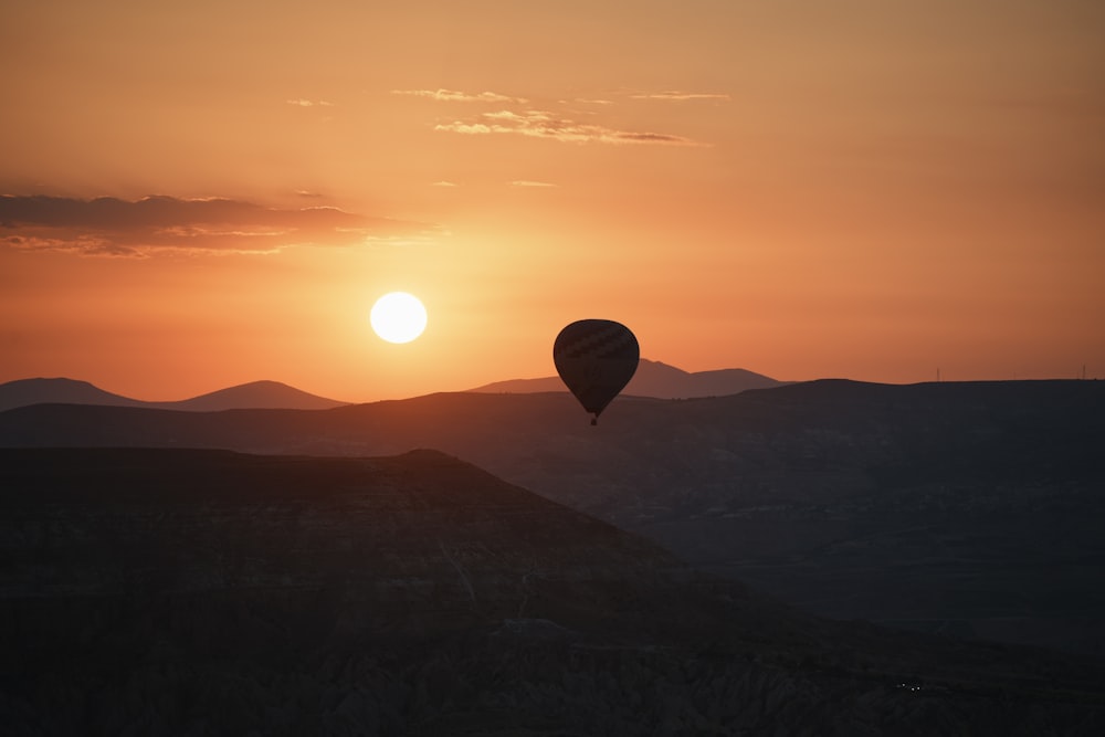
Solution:
[[(1105, 378), (1101, 0), (4, 0), (0, 381)], [(429, 312), (392, 345), (368, 314)]]

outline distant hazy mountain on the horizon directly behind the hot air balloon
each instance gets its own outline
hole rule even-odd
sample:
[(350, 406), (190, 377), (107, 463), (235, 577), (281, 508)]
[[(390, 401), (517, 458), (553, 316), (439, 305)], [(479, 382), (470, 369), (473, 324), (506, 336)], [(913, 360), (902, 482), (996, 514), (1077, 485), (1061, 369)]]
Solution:
[[(776, 381), (745, 369), (720, 369), (688, 373), (674, 366), (641, 359), (636, 373), (622, 391), (625, 396), (656, 397), (660, 399), (691, 399), (694, 397), (722, 397), (747, 389), (768, 389), (786, 382)], [(559, 377), (541, 379), (513, 379), (496, 381), (472, 389), (482, 393), (532, 393), (538, 391), (568, 391)]]

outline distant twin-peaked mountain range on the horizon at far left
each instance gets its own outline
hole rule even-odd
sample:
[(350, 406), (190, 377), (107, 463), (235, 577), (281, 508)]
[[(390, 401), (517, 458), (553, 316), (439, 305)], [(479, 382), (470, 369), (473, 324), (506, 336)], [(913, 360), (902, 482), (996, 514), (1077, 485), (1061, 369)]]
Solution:
[(253, 381), (176, 402), (145, 402), (113, 394), (87, 381), (73, 379), (20, 379), (0, 385), (0, 411), (43, 403), (147, 407), (192, 412), (230, 409), (325, 410), (345, 404), (278, 381)]

